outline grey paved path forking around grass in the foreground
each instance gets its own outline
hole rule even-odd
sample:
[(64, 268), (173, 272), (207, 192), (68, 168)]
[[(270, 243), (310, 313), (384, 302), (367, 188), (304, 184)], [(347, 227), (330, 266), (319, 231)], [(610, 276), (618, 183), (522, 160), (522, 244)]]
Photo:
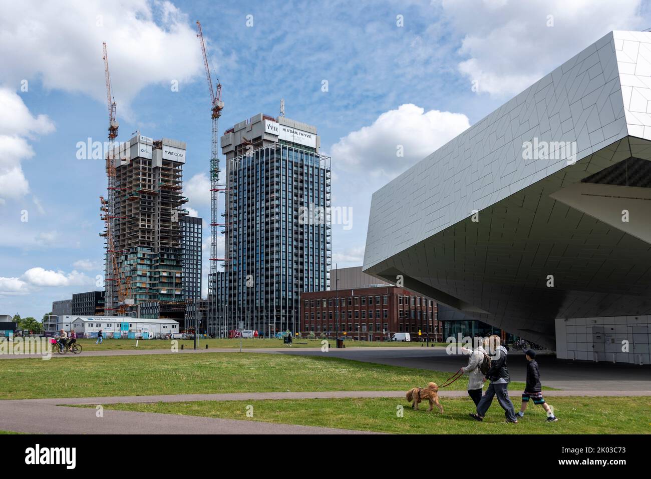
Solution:
[[(360, 434), (368, 431), (339, 430), (294, 424), (183, 416), (95, 408), (68, 407), (76, 404), (155, 403), (186, 401), (247, 401), (312, 398), (396, 398), (404, 402), (404, 391), (316, 391), (236, 392), (229, 394), (171, 394), (164, 396), (112, 396), (102, 398), (47, 398), (3, 400), (0, 429), (42, 434)], [(465, 397), (465, 391), (439, 392), (441, 397)], [(651, 396), (646, 391), (563, 390), (546, 396)]]

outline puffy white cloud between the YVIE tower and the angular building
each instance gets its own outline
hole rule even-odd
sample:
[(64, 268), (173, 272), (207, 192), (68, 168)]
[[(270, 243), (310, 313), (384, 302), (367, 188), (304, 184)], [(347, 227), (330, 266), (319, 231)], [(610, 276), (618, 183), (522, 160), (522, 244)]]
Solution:
[[(469, 128), (462, 113), (430, 110), (411, 103), (382, 113), (370, 126), (332, 146), (333, 163), (348, 171), (395, 176)], [(402, 147), (404, 156), (398, 156)]]

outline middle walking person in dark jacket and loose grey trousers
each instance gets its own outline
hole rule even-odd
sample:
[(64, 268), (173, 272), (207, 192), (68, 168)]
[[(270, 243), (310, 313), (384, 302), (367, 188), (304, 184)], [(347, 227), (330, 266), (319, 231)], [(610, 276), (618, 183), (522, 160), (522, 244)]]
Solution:
[(484, 394), (482, 400), (477, 405), (477, 413), (471, 413), (471, 417), (478, 421), (484, 420), (484, 415), (486, 415), (486, 411), (488, 411), (488, 408), (493, 402), (493, 397), (497, 396), (497, 402), (504, 409), (506, 422), (518, 424), (515, 407), (508, 397), (508, 383), (511, 381), (508, 374), (508, 367), (506, 366), (506, 355), (508, 351), (506, 351), (504, 346), (501, 346), (499, 336), (493, 335), (488, 338), (488, 354), (491, 357), (491, 366), (483, 381), (490, 379), (490, 385), (486, 389), (486, 394)]

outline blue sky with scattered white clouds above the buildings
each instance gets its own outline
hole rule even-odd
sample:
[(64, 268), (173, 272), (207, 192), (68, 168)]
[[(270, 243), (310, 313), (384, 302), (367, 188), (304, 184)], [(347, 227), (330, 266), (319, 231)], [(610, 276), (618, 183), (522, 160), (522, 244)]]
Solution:
[(211, 122), (197, 20), (223, 85), (220, 135), (277, 116), (281, 98), (286, 117), (317, 127), (333, 208), (351, 213), (333, 225), (339, 267), (362, 264), (374, 191), (609, 31), (651, 27), (642, 0), (0, 0), (0, 11), (0, 314), (38, 319), (102, 289), (105, 165), (79, 146), (107, 136), (102, 42), (118, 141), (187, 143), (205, 297)]

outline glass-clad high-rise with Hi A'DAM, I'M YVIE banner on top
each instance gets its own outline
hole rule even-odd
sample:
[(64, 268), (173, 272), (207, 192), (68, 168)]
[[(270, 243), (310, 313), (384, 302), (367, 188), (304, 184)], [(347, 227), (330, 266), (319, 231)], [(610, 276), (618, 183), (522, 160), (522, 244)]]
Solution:
[(298, 331), (299, 295), (329, 288), (331, 165), (316, 127), (261, 113), (221, 137), (225, 258), (208, 332)]

